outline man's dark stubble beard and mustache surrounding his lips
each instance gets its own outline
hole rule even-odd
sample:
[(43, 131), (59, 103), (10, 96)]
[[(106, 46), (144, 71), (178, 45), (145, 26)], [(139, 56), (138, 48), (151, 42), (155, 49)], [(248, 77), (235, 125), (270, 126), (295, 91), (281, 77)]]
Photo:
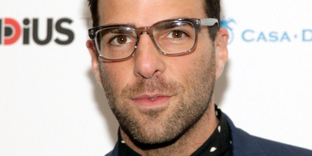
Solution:
[[(198, 68), (184, 75), (184, 83), (161, 76), (152, 79), (138, 78), (121, 91), (113, 85), (110, 73), (100, 64), (100, 74), (108, 104), (116, 116), (120, 128), (136, 144), (157, 145), (174, 142), (189, 130), (204, 114), (213, 96), (215, 84), (214, 50), (207, 65), (207, 58), (194, 62)], [(105, 65), (104, 65), (105, 66)], [(115, 82), (116, 83), (116, 82)], [(167, 109), (140, 111), (129, 102), (137, 94), (160, 92), (174, 94), (176, 101)]]

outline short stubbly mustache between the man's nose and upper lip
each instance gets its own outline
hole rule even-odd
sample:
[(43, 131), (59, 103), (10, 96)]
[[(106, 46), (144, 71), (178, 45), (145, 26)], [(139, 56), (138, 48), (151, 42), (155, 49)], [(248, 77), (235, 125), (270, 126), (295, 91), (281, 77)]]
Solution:
[(181, 83), (156, 76), (151, 79), (138, 78), (135, 83), (127, 84), (122, 89), (122, 95), (128, 94), (130, 97), (134, 97), (135, 95), (143, 93), (174, 94), (181, 89), (183, 89)]

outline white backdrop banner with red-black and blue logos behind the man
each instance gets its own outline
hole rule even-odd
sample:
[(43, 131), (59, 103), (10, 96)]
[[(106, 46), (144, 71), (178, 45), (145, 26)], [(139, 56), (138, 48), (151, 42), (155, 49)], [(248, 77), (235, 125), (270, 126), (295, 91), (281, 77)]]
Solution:
[[(215, 102), (252, 135), (312, 149), (312, 1), (223, 0)], [(103, 156), (118, 123), (91, 71), (86, 0), (0, 1), (0, 156)]]

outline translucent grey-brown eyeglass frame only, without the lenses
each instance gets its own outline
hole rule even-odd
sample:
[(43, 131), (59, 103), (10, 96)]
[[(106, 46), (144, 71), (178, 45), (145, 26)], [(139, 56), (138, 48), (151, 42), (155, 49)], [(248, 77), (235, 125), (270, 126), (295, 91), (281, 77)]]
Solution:
[[(153, 31), (154, 31), (153, 29), (154, 29), (155, 25), (159, 25), (162, 23), (173, 23), (173, 22), (191, 23), (191, 25), (194, 28), (194, 42), (193, 42), (192, 47), (190, 47), (189, 49), (187, 49), (185, 51), (178, 52), (178, 53), (166, 53), (165, 51), (161, 50), (161, 48), (159, 48), (159, 46), (157, 45), (157, 43), (154, 39), (154, 36), (153, 36)], [(141, 34), (148, 34), (151, 37), (154, 45), (156, 46), (156, 48), (158, 49), (158, 51), (161, 54), (166, 55), (166, 56), (177, 56), (177, 55), (187, 54), (194, 49), (195, 45), (197, 44), (198, 30), (201, 26), (213, 26), (215, 24), (217, 24), (219, 26), (218, 19), (216, 19), (216, 18), (201, 18), (201, 19), (177, 18), (177, 19), (162, 20), (162, 21), (156, 22), (152, 26), (139, 27), (139, 28), (136, 28), (133, 25), (128, 25), (128, 24), (97, 26), (97, 27), (89, 29), (88, 34), (89, 34), (90, 39), (93, 41), (97, 55), (101, 59), (107, 60), (107, 61), (123, 61), (123, 60), (127, 60), (127, 59), (131, 58), (135, 54), (135, 51), (136, 51), (138, 44), (139, 44), (139, 39), (140, 39)], [(101, 54), (100, 47), (98, 46), (99, 43), (97, 41), (98, 33), (102, 30), (110, 29), (110, 28), (131, 28), (131, 29), (135, 30), (135, 32), (136, 32), (136, 43), (135, 43), (135, 46), (134, 46), (132, 53), (130, 55), (128, 55), (126, 57), (122, 57), (122, 58), (109, 58), (109, 57), (105, 57)]]

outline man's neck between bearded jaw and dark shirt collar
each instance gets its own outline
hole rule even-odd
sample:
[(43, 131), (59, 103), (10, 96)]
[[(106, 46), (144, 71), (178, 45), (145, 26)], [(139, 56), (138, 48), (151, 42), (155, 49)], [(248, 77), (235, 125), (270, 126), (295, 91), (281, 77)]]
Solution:
[(165, 147), (143, 150), (137, 147), (121, 129), (123, 141), (134, 151), (143, 156), (189, 156), (202, 146), (212, 135), (219, 123), (215, 114), (214, 102), (211, 100), (203, 116), (187, 130), (176, 142)]

